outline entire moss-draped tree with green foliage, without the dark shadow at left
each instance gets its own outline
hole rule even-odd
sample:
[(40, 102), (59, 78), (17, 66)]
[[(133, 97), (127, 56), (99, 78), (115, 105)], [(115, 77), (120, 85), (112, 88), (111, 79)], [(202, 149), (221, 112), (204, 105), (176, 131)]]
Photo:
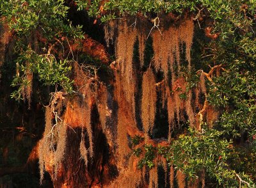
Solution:
[(12, 0), (0, 19), (11, 97), (51, 94), (41, 184), (256, 186), (255, 1)]

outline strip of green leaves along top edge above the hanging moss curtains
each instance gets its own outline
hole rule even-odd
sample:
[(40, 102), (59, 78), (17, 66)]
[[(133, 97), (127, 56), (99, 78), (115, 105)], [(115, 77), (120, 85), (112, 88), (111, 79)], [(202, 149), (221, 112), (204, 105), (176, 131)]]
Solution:
[[(124, 15), (136, 15), (141, 13), (142, 15), (147, 15), (147, 13), (183, 13), (184, 10), (188, 10), (191, 13), (198, 13), (203, 8), (209, 11), (210, 16), (214, 20), (224, 20), (228, 16), (233, 19), (234, 24), (236, 24), (237, 17), (234, 15), (237, 13), (236, 10), (240, 11), (241, 4), (248, 4), (249, 10), (253, 13), (256, 10), (255, 1), (209, 1), (209, 0), (189, 0), (189, 1), (179, 1), (179, 0), (167, 0), (167, 1), (155, 1), (155, 0), (139, 0), (139, 1), (126, 1), (126, 0), (110, 0), (103, 5), (104, 13), (100, 11), (100, 1), (92, 1), (92, 4), (89, 4), (88, 1), (76, 0), (79, 10), (83, 8), (88, 8), (88, 13), (92, 17), (102, 18), (102, 21), (113, 19), (115, 17), (122, 17)], [(107, 13), (106, 13), (107, 12)], [(118, 15), (116, 15), (118, 13)], [(101, 17), (105, 15), (105, 17)], [(106, 17), (109, 15), (109, 17)], [(241, 22), (240, 22), (241, 23)], [(243, 22), (242, 22), (243, 23)]]

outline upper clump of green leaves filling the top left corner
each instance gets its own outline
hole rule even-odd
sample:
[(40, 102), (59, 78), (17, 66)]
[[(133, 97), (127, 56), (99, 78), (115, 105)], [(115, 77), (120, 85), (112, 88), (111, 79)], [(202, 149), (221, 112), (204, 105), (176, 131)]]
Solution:
[(83, 37), (80, 26), (67, 24), (68, 6), (64, 3), (64, 0), (3, 1), (0, 13), (7, 18), (10, 28), (19, 36), (29, 36), (31, 31), (38, 29), (48, 38), (63, 35)]

